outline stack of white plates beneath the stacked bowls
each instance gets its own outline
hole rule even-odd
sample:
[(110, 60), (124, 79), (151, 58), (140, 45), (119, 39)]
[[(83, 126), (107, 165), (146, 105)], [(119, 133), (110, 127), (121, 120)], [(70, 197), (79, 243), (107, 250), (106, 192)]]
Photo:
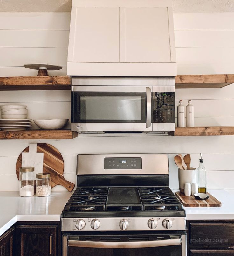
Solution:
[(29, 119), (0, 119), (0, 129), (3, 131), (27, 130), (31, 126)]

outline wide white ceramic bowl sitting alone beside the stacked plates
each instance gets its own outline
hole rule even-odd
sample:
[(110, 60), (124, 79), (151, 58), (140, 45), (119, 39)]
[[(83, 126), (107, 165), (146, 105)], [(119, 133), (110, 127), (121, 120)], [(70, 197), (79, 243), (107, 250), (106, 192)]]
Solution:
[(69, 119), (40, 119), (33, 121), (42, 130), (59, 130), (67, 124), (68, 120)]

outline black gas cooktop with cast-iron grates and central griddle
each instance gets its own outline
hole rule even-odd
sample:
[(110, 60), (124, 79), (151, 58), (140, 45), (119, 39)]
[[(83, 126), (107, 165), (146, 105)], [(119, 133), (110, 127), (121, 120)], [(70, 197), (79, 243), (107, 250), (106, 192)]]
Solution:
[(185, 216), (169, 187), (77, 187), (62, 217)]

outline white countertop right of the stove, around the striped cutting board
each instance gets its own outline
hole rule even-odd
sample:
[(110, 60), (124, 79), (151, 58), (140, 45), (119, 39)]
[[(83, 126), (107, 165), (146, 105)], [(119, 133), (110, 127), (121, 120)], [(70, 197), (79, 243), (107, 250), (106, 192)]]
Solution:
[[(178, 190), (173, 190), (175, 193)], [(207, 190), (217, 198), (221, 207), (184, 207), (187, 220), (234, 220), (234, 189)]]

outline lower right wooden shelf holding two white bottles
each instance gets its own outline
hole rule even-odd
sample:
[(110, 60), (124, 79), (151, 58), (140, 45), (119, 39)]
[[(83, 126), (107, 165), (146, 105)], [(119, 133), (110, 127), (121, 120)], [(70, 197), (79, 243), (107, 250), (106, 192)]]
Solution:
[(207, 136), (207, 135), (234, 135), (233, 126), (225, 127), (176, 127), (174, 136)]

